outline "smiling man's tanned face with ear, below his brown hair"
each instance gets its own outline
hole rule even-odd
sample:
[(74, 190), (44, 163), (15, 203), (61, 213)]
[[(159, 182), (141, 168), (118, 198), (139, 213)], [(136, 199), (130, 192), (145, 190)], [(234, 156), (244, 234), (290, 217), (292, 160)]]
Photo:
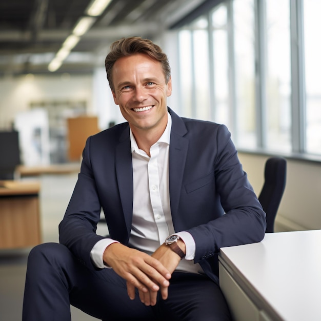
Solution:
[(162, 65), (147, 55), (135, 54), (118, 59), (112, 72), (114, 102), (133, 133), (140, 130), (163, 133), (172, 84), (171, 79), (166, 84)]

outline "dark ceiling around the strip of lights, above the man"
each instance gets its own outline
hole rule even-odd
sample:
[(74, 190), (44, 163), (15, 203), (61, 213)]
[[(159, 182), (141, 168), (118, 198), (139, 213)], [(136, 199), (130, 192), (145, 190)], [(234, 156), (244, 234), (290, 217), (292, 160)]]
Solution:
[[(112, 0), (67, 56), (58, 73), (91, 72), (102, 66), (114, 40), (153, 39), (204, 0)], [(0, 0), (0, 76), (50, 73), (48, 65), (91, 0)]]

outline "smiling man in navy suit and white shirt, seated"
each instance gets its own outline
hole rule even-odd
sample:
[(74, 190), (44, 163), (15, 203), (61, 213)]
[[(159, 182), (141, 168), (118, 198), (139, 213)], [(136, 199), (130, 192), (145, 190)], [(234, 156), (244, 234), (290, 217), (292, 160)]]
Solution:
[(266, 226), (230, 133), (167, 107), (168, 58), (151, 41), (116, 41), (105, 65), (127, 123), (88, 138), (61, 244), (29, 255), (23, 320), (70, 320), (70, 304), (104, 320), (229, 320), (217, 253)]

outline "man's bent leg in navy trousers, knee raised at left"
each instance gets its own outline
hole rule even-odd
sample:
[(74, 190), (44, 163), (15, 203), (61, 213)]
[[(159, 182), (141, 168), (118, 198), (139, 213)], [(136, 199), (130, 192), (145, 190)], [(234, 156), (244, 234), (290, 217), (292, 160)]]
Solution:
[(70, 304), (100, 319), (157, 319), (138, 294), (128, 297), (125, 280), (112, 269), (87, 268), (61, 244), (35, 247), (28, 259), (24, 319), (70, 320)]

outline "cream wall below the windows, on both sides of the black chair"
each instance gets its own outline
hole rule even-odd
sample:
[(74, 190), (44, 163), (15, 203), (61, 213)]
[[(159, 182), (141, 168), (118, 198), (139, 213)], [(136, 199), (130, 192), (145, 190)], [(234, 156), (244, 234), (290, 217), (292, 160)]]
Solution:
[[(267, 156), (239, 153), (258, 195)], [(275, 231), (321, 229), (321, 163), (287, 160), (287, 183), (275, 219)]]

